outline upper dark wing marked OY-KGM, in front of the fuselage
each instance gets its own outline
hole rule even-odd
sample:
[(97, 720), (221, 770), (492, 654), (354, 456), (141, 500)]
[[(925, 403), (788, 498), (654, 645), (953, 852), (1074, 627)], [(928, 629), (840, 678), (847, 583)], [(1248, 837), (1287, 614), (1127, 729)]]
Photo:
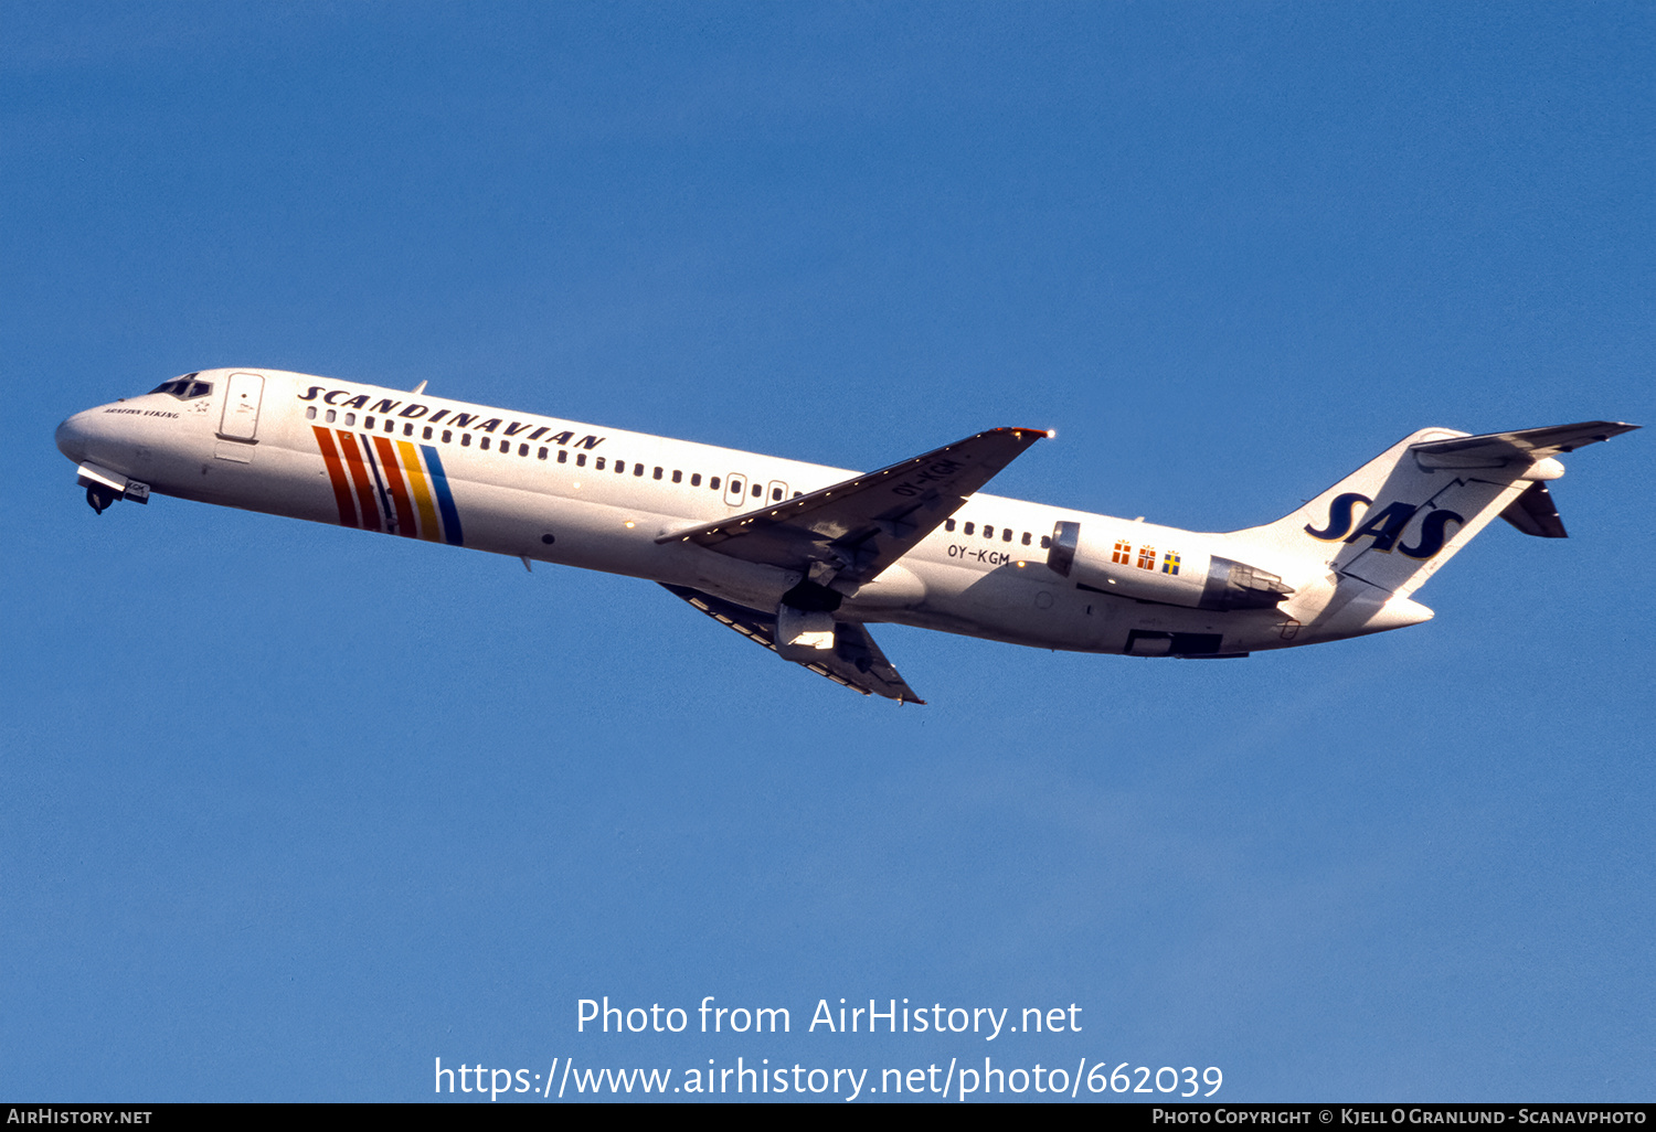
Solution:
[(821, 584), (835, 578), (866, 583), (1047, 435), (1045, 429), (990, 429), (797, 500), (656, 541), (699, 543), (742, 561), (803, 571)]

